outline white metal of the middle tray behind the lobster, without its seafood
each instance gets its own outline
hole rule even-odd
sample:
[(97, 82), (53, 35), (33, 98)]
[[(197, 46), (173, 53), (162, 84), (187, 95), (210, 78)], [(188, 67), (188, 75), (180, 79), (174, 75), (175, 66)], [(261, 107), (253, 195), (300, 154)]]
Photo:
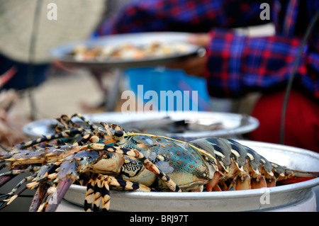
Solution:
[[(102, 121), (104, 123), (126, 123), (138, 120), (157, 120), (169, 116), (172, 120), (189, 120), (198, 121), (198, 123), (222, 123), (223, 128), (211, 131), (201, 132), (180, 132), (180, 133), (167, 133), (163, 134), (167, 137), (177, 137), (179, 140), (194, 140), (200, 137), (234, 137), (235, 135), (242, 135), (251, 132), (258, 128), (259, 121), (248, 115), (240, 115), (235, 113), (218, 113), (218, 112), (164, 112), (164, 113), (96, 113), (84, 115), (92, 122)], [(39, 137), (43, 135), (50, 135), (54, 132), (52, 125), (57, 123), (54, 119), (37, 120), (28, 123), (23, 127), (23, 132), (29, 137)]]

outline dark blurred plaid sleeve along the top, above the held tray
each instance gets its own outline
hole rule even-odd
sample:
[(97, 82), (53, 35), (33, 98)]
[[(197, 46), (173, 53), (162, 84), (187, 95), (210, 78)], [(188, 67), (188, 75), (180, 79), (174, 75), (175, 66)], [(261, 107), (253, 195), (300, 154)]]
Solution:
[[(269, 0), (140, 0), (103, 21), (98, 35), (148, 31), (208, 33), (213, 27), (235, 28), (263, 23), (260, 4)], [(264, 22), (266, 23), (266, 22)]]

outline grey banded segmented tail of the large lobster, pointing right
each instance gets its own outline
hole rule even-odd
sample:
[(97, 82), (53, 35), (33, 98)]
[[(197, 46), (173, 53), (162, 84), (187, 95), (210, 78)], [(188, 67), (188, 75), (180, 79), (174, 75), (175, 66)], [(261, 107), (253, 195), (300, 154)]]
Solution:
[[(308, 172), (287, 169), (273, 162), (269, 162), (262, 155), (255, 152), (250, 147), (240, 145), (234, 140), (223, 138), (204, 138), (191, 142), (192, 145), (205, 150), (203, 155), (213, 157), (213, 166), (223, 166), (216, 169), (218, 171), (219, 182), (212, 185), (211, 180), (208, 187), (219, 186), (221, 191), (229, 190), (233, 187), (235, 190), (250, 188), (262, 188), (264, 186), (272, 187), (289, 183), (308, 181), (319, 176), (319, 172)], [(233, 167), (235, 164), (235, 168)], [(231, 169), (231, 170), (230, 170)], [(220, 183), (230, 179), (230, 186), (224, 186)], [(245, 185), (245, 186), (244, 186)], [(212, 188), (214, 190), (216, 188)], [(220, 190), (220, 189), (218, 189)]]

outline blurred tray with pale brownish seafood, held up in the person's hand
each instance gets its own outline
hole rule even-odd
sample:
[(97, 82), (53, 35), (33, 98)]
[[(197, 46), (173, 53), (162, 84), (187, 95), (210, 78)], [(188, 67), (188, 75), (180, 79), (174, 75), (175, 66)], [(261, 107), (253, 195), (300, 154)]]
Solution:
[(189, 33), (147, 32), (108, 35), (56, 47), (52, 57), (85, 67), (123, 68), (164, 65), (205, 49), (187, 42)]

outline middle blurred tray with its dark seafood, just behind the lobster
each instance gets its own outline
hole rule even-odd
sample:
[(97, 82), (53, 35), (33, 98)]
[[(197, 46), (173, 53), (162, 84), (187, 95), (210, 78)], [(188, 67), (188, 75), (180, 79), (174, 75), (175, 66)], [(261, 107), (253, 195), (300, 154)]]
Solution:
[[(259, 126), (257, 118), (250, 115), (208, 111), (114, 112), (88, 114), (85, 117), (94, 123), (115, 123), (133, 132), (165, 135), (184, 141), (200, 137), (238, 137)], [(23, 132), (28, 137), (49, 135), (54, 132), (56, 124), (55, 119), (37, 120), (25, 125)]]

